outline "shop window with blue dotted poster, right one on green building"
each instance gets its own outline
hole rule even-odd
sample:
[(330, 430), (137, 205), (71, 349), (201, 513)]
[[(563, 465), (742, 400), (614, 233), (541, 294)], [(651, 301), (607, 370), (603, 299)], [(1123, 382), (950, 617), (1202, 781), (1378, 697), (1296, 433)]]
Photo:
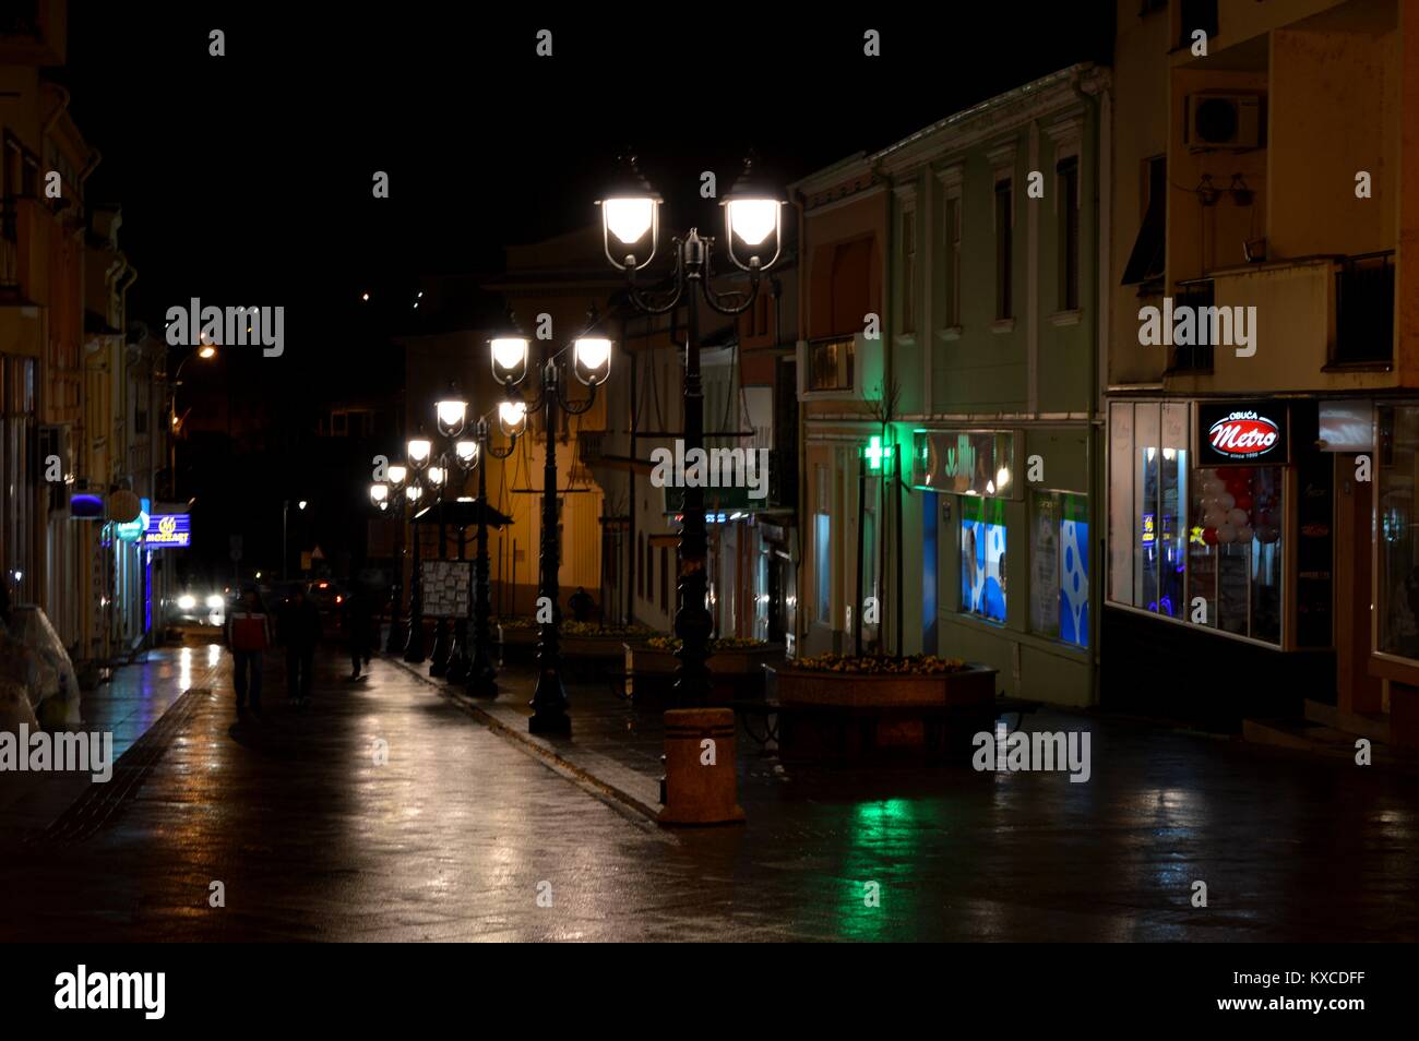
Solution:
[(1034, 492), (1030, 498), (1030, 628), (1088, 647), (1088, 496)]

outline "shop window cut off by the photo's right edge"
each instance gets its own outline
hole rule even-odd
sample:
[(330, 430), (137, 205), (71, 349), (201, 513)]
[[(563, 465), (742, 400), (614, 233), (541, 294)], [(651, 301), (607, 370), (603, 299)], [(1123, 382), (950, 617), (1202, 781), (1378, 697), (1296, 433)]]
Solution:
[(1419, 408), (1382, 406), (1379, 418), (1379, 650), (1419, 658)]

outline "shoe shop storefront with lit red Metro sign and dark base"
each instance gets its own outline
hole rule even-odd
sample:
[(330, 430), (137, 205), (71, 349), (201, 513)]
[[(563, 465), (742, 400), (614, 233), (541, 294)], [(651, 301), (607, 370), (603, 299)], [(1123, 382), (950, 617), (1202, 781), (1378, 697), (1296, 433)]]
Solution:
[[(1334, 698), (1337, 559), (1364, 488), (1315, 399), (1112, 401), (1105, 708), (1235, 726)], [(1364, 543), (1361, 543), (1364, 545)]]

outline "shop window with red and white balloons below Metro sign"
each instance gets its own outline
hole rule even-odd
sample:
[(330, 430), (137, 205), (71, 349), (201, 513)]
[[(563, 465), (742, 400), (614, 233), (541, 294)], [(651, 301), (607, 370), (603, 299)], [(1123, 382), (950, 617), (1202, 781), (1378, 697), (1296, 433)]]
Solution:
[(1283, 468), (1196, 469), (1192, 489), (1188, 620), (1280, 644)]

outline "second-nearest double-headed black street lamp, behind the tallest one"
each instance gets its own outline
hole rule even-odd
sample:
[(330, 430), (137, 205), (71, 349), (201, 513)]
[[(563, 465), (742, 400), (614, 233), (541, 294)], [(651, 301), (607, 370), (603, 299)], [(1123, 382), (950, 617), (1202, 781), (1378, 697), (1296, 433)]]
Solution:
[[(492, 374), (512, 394), (528, 372), (528, 340), (522, 336), (499, 336), (491, 343)], [(551, 606), (548, 621), (541, 623), (538, 640), (538, 681), (532, 692), (532, 733), (570, 733), (572, 718), (566, 715), (566, 688), (562, 684), (561, 633), (562, 607), (558, 572), (561, 550), (556, 542), (556, 407), (569, 416), (579, 416), (592, 407), (596, 389), (606, 382), (612, 367), (612, 342), (597, 336), (583, 336), (572, 345), (572, 367), (576, 379), (590, 389), (582, 401), (572, 401), (563, 390), (565, 380), (558, 363), (561, 353), (551, 355), (542, 364), (542, 393), (535, 401), (511, 397), (498, 406), (498, 425), (514, 442), (526, 430), (528, 413), (543, 410), (546, 455), (542, 465), (542, 547), (539, 601)], [(511, 445), (509, 445), (511, 451)]]

